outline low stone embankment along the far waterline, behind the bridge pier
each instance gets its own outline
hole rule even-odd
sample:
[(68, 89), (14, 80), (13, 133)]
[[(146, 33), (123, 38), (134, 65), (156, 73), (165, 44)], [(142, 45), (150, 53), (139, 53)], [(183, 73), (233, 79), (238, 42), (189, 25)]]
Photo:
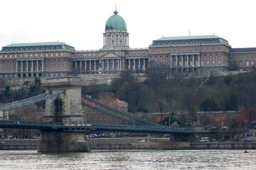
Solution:
[[(41, 140), (0, 140), (0, 150), (36, 150)], [(91, 149), (256, 149), (256, 142), (169, 142), (169, 138), (106, 137), (87, 139)]]

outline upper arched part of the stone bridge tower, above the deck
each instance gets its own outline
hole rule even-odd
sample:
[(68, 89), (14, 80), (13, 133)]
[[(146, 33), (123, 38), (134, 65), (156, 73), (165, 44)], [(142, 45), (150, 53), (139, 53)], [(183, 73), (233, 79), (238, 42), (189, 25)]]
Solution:
[(45, 119), (53, 122), (60, 122), (64, 125), (80, 123), (83, 120), (81, 104), (81, 88), (79, 77), (63, 77), (48, 79), (46, 92), (51, 91), (53, 94), (65, 91), (64, 94), (49, 98), (46, 101)]

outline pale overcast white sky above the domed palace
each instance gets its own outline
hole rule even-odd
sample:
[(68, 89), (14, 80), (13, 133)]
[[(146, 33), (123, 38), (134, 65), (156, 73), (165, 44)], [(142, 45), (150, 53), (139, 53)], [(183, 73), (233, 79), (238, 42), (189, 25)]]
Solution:
[(0, 48), (22, 42), (65, 42), (102, 48), (107, 18), (127, 23), (129, 46), (161, 37), (218, 35), (232, 47), (256, 47), (255, 0), (0, 0)]

